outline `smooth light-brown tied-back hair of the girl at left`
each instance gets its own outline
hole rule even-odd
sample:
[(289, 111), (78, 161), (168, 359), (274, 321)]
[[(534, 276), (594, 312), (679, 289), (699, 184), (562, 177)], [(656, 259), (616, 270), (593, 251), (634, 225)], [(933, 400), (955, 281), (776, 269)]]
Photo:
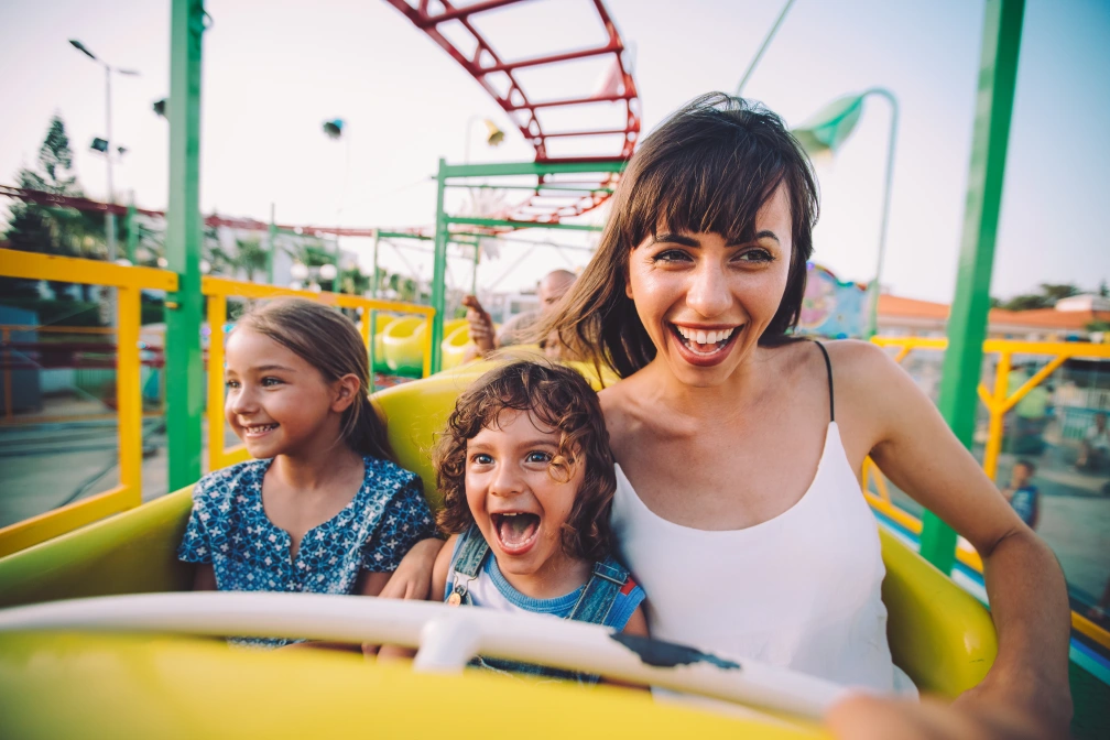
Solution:
[(359, 376), (354, 403), (343, 412), (343, 440), (354, 452), (393, 460), (385, 424), (366, 395), (370, 361), (354, 323), (334, 308), (304, 298), (274, 298), (255, 303), (236, 326), (266, 336), (320, 371), (326, 383)]

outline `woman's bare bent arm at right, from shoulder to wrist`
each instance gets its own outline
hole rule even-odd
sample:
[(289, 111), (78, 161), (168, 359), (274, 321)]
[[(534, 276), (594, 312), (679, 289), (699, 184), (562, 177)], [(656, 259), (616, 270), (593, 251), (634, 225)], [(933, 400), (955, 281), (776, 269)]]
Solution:
[[(837, 399), (859, 453), (967, 538), (983, 561), (998, 658), (959, 702), (990, 702), (1066, 734), (1070, 608), (1063, 572), (1049, 547), (1017, 516), (936, 406), (880, 348), (835, 343)], [(842, 389), (842, 391), (841, 391)], [(840, 418), (838, 417), (838, 422)], [(852, 458), (855, 462), (855, 457)]]

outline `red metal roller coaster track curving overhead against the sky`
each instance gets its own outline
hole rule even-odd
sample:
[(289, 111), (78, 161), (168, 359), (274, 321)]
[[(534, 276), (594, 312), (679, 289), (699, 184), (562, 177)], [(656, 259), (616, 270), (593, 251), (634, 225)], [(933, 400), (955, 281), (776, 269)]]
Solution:
[[(428, 10), (428, 7), (432, 4), (430, 0), (418, 0), (415, 7), (406, 2), (406, 0), (386, 0), (386, 2), (404, 13), (404, 16), (412, 21), (416, 28), (427, 33), (433, 41), (451, 54), (451, 57), (458, 62), (458, 64), (462, 65), (462, 68), (466, 70), (478, 82), (478, 84), (485, 89), (486, 92), (490, 93), (497, 104), (501, 105), (502, 110), (509, 114), (509, 118), (513, 119), (519, 128), (521, 134), (524, 136), (525, 141), (529, 142), (536, 150), (536, 162), (613, 162), (627, 160), (632, 156), (633, 150), (636, 146), (636, 139), (639, 135), (639, 98), (636, 93), (636, 82), (633, 79), (632, 72), (625, 68), (624, 59), (622, 58), (624, 52), (624, 42), (620, 40), (620, 34), (617, 31), (616, 24), (609, 17), (608, 11), (605, 9), (605, 3), (602, 0), (593, 0), (592, 3), (594, 9), (597, 11), (597, 18), (605, 28), (605, 32), (608, 37), (608, 41), (604, 45), (566, 51), (556, 54), (547, 54), (544, 57), (535, 57), (532, 59), (504, 61), (493, 49), (491, 43), (474, 27), (471, 19), (480, 13), (528, 1), (535, 2), (535, 0), (485, 0), (474, 2), (465, 7), (455, 7), (447, 0), (438, 0), (435, 6), (437, 8), (442, 7), (442, 11), (432, 13)], [(448, 21), (458, 21), (462, 28), (466, 29), (470, 33), (472, 37), (471, 41), (474, 44), (473, 54), (467, 55), (458, 48), (458, 45), (456, 45), (455, 42), (441, 33), (438, 29), (440, 24)], [(619, 78), (619, 85), (616, 90), (603, 91), (589, 97), (535, 102), (529, 99), (528, 94), (521, 87), (521, 83), (515, 75), (516, 70), (521, 69), (535, 69), (577, 59), (605, 55), (612, 55), (614, 58), (615, 72)], [(502, 73), (508, 80), (508, 90), (504, 93), (500, 92), (490, 79), (491, 75)], [(539, 119), (536, 116), (536, 111), (544, 108), (567, 108), (575, 105), (584, 107), (603, 102), (624, 104), (625, 125), (623, 129), (547, 132), (544, 131), (542, 124), (539, 123)], [(623, 138), (619, 153), (615, 152), (612, 155), (601, 156), (565, 158), (549, 156), (547, 154), (548, 139), (615, 134), (619, 134)], [(544, 178), (541, 178), (541, 182), (543, 181)], [(601, 187), (612, 187), (613, 184), (614, 178), (612, 176), (606, 176), (599, 182)], [(608, 197), (608, 193), (591, 193), (588, 196), (578, 199), (573, 205), (564, 205), (559, 207), (536, 202), (536, 197), (538, 196), (539, 192), (536, 191), (536, 193), (527, 201), (516, 205), (514, 207), (514, 211), (517, 214), (516, 217), (527, 221), (549, 222), (558, 221), (562, 217), (581, 215), (601, 205)], [(536, 213), (536, 211), (544, 211), (545, 213)]]

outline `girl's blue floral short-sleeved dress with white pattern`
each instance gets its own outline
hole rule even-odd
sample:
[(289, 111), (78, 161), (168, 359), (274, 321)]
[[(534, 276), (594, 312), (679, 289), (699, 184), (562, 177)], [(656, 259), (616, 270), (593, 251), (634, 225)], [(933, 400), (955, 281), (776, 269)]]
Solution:
[[(272, 460), (248, 460), (201, 478), (178, 557), (211, 562), (221, 591), (351, 594), (363, 570), (392, 572), (435, 525), (421, 479), (387, 460), (363, 457), (366, 474), (351, 503), (305, 533), (296, 557), (290, 537), (262, 507)], [(280, 647), (287, 639), (236, 639)]]

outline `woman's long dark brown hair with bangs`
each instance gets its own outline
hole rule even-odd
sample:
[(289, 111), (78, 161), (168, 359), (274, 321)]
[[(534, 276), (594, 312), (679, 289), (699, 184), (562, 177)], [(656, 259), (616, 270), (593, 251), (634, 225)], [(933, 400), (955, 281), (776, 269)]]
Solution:
[(558, 331), (564, 343), (595, 364), (609, 365), (620, 377), (632, 375), (656, 353), (625, 294), (632, 251), (664, 226), (751, 241), (756, 214), (779, 185), (789, 196), (794, 249), (783, 300), (759, 343), (786, 341), (806, 290), (817, 182), (783, 119), (722, 92), (687, 103), (644, 139), (620, 176), (596, 254), (536, 335)]

